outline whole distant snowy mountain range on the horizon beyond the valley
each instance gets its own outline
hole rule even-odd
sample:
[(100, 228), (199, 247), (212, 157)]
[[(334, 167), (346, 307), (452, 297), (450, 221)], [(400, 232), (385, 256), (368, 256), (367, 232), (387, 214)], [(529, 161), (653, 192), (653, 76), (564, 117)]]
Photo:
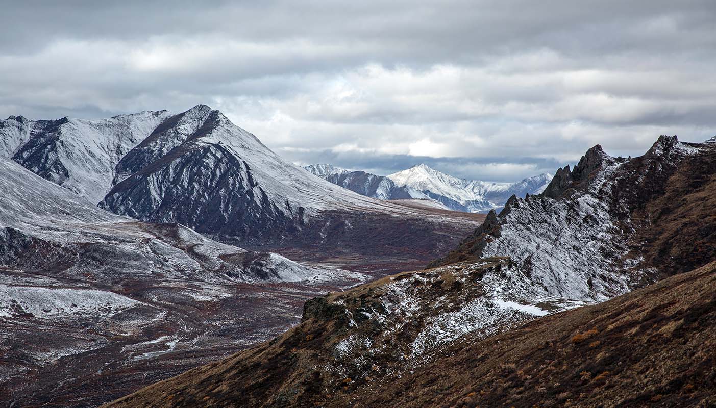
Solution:
[(387, 176), (350, 171), (328, 164), (304, 167), (314, 175), (356, 193), (380, 200), (420, 198), (435, 200), (451, 210), (485, 213), (502, 208), (516, 195), (539, 194), (552, 180), (551, 174), (536, 175), (517, 183), (465, 180), (441, 173), (425, 164)]

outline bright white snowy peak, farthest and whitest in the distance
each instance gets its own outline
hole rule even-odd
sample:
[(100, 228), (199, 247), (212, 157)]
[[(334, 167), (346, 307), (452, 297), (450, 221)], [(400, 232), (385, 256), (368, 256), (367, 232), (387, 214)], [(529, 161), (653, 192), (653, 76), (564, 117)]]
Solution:
[(541, 193), (552, 175), (541, 174), (517, 183), (488, 183), (455, 178), (420, 164), (388, 175), (397, 185), (419, 190), (454, 210), (478, 213), (501, 208), (511, 195)]

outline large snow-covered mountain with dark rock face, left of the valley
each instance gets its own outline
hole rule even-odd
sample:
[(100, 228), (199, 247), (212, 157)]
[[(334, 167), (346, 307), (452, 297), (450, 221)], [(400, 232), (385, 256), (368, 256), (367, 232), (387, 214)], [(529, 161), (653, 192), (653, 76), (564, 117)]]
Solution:
[(481, 220), (339, 188), (206, 105), (96, 121), (9, 117), (0, 140), (4, 157), (113, 213), (304, 260), (417, 266)]

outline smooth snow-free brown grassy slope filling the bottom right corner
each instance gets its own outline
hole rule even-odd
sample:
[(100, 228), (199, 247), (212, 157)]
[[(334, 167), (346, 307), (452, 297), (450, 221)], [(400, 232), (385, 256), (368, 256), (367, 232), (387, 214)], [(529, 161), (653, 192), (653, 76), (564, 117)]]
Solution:
[(361, 401), (354, 406), (713, 407), (715, 299), (716, 263), (709, 263), (465, 341), (386, 389), (352, 396)]

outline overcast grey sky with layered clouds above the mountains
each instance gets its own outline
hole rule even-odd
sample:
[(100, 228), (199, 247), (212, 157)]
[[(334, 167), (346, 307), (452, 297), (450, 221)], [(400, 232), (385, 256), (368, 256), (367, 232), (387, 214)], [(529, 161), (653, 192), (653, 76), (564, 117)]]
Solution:
[(493, 181), (716, 135), (712, 0), (3, 3), (1, 117), (205, 103), (299, 164)]

